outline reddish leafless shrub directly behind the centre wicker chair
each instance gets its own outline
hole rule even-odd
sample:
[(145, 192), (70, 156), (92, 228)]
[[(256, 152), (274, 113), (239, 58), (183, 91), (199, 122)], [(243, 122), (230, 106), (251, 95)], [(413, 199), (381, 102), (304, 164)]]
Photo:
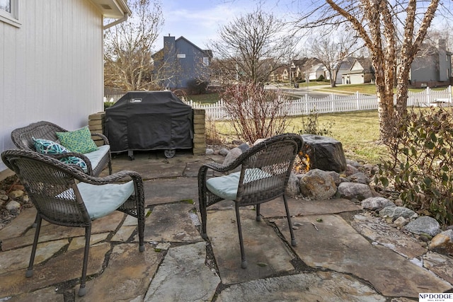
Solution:
[(286, 97), (280, 91), (267, 91), (256, 83), (227, 86), (220, 93), (225, 110), (231, 116), (231, 126), (240, 139), (257, 139), (281, 134), (289, 120), (284, 108)]

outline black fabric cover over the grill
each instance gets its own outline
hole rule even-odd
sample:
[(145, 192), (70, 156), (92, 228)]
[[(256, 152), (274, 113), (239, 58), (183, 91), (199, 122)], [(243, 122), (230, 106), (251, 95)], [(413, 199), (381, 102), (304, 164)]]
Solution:
[(171, 91), (131, 91), (105, 109), (113, 152), (192, 148), (192, 108)]

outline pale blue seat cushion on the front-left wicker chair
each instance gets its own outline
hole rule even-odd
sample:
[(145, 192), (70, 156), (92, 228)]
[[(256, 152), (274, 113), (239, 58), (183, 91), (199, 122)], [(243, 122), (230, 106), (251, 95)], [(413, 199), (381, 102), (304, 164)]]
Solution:
[(134, 182), (124, 184), (91, 185), (77, 184), (86, 210), (91, 219), (98, 219), (115, 211), (134, 193)]

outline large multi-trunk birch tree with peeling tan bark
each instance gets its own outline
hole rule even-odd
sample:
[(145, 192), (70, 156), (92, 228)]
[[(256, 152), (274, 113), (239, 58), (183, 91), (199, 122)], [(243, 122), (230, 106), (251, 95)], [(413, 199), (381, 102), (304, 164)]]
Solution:
[[(439, 0), (325, 0), (301, 16), (299, 26), (336, 25), (347, 22), (372, 55), (379, 98), (379, 133), (382, 141), (395, 134), (406, 114), (408, 79)], [(316, 17), (316, 18), (315, 18)], [(399, 35), (401, 28), (401, 35)], [(396, 64), (398, 63), (398, 69)], [(394, 108), (394, 79), (396, 107)]]

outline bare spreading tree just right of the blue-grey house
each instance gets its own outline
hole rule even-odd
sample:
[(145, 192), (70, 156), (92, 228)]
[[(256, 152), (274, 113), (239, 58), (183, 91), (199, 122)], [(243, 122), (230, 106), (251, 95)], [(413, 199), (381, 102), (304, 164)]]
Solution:
[(211, 40), (210, 48), (231, 81), (268, 81), (269, 75), (294, 53), (298, 42), (287, 34), (285, 23), (260, 8), (235, 18), (218, 33), (219, 39)]

